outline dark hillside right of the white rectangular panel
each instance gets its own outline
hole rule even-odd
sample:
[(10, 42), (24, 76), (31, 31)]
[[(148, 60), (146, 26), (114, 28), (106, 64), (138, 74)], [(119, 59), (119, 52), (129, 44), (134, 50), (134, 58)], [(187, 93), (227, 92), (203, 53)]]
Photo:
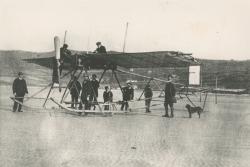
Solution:
[(202, 62), (202, 80), (205, 86), (218, 85), (222, 88), (250, 88), (250, 60), (200, 60)]

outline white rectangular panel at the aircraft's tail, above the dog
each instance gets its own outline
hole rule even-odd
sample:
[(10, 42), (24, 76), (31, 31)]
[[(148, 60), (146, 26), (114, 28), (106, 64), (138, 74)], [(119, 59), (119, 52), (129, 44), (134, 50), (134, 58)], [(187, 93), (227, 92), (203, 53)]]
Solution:
[(189, 66), (189, 85), (200, 85), (200, 66)]

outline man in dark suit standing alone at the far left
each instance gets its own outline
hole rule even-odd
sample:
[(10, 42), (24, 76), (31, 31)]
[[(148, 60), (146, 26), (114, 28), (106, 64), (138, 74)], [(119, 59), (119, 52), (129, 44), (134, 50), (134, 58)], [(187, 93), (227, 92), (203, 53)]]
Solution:
[[(19, 72), (18, 73), (18, 78), (16, 78), (13, 82), (12, 85), (12, 90), (13, 90), (13, 94), (15, 96), (15, 100), (23, 103), (23, 98), (24, 95), (26, 93), (28, 93), (28, 89), (27, 89), (27, 85), (26, 85), (26, 81), (23, 79), (23, 73)], [(13, 112), (18, 111), (18, 112), (22, 112), (22, 105), (14, 102), (14, 106), (13, 106)]]

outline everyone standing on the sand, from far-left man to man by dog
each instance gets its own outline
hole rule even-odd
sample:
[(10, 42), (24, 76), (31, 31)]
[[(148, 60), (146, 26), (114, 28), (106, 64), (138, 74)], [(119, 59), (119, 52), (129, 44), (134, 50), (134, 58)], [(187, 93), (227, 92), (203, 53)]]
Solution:
[[(172, 76), (168, 76), (168, 82), (165, 86), (165, 114), (163, 117), (174, 117), (174, 103), (176, 103), (175, 98), (175, 86), (172, 83)], [(76, 76), (72, 76), (71, 81), (69, 83), (69, 90), (71, 94), (71, 107), (76, 108), (77, 104), (79, 104), (79, 109), (90, 110), (91, 106), (93, 106), (93, 110), (96, 108), (97, 98), (98, 98), (98, 89), (99, 89), (99, 81), (97, 80), (97, 76), (95, 74), (92, 75), (91, 80), (88, 76), (84, 75), (84, 79), (82, 84), (77, 80)], [(13, 106), (13, 112), (18, 111), (22, 112), (22, 103), (24, 99), (24, 95), (28, 93), (26, 81), (23, 78), (23, 73), (19, 72), (18, 77), (14, 80), (12, 85), (13, 94), (15, 97), (15, 102)], [(78, 99), (80, 97), (80, 102)], [(144, 89), (144, 97), (145, 97), (145, 108), (146, 112), (150, 111), (151, 101), (153, 97), (153, 91), (150, 88), (150, 85), (147, 84)], [(129, 108), (129, 101), (134, 98), (134, 89), (132, 87), (131, 82), (127, 82), (127, 85), (122, 88), (122, 103), (121, 110), (127, 111)], [(110, 103), (113, 102), (113, 93), (110, 90), (109, 86), (105, 86), (105, 91), (103, 92), (103, 101), (104, 101), (104, 110), (109, 110)], [(168, 112), (168, 106), (170, 107), (170, 114)]]

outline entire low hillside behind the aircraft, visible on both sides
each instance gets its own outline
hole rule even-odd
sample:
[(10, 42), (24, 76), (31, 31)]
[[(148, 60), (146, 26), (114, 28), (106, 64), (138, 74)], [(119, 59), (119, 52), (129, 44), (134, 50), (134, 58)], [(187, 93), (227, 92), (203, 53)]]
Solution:
[[(72, 51), (73, 53), (82, 53)], [(0, 83), (10, 84), (18, 71), (23, 71), (29, 84), (46, 85), (51, 82), (51, 69), (22, 61), (22, 59), (51, 57), (53, 52), (27, 52), (20, 50), (0, 51)], [(206, 60), (200, 59), (202, 63), (202, 85), (215, 86), (215, 78), (218, 77), (218, 87), (230, 89), (250, 88), (250, 60)], [(150, 73), (149, 73), (150, 71)], [(134, 69), (133, 72), (148, 76), (166, 78), (169, 73), (178, 76), (178, 82), (186, 84), (188, 81), (187, 68), (154, 68), (154, 69)], [(120, 75), (121, 80), (134, 79), (144, 80), (129, 75)], [(105, 78), (108, 80), (107, 78)], [(146, 82), (146, 80), (145, 80)]]

